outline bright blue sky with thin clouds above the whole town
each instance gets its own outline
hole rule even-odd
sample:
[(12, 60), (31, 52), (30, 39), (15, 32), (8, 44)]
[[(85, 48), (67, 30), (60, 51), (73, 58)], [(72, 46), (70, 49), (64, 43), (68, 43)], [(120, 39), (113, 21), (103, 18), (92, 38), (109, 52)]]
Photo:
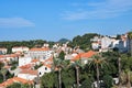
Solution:
[(59, 38), (132, 30), (132, 0), (0, 0), (0, 41)]

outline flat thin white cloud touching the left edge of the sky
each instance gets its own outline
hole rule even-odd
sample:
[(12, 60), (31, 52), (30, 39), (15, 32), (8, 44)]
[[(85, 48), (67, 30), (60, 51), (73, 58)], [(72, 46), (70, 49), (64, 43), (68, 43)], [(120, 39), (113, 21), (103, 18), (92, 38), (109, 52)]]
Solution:
[(34, 26), (34, 23), (23, 18), (0, 18), (0, 28)]

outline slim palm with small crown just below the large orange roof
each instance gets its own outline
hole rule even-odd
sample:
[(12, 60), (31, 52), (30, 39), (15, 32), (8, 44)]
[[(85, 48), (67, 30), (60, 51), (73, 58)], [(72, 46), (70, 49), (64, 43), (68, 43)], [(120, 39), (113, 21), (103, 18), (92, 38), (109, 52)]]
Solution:
[(81, 61), (76, 61), (72, 66), (76, 69), (76, 82), (77, 88), (79, 88), (79, 68), (81, 67)]

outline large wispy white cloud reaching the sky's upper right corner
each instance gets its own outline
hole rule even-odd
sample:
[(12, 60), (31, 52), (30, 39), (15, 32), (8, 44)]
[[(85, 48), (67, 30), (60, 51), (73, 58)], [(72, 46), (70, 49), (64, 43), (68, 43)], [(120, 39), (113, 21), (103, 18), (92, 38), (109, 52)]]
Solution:
[[(76, 3), (77, 4), (77, 3)], [(78, 7), (77, 7), (78, 6)], [(79, 3), (77, 4), (77, 9)], [(81, 3), (82, 6), (82, 3)], [(103, 2), (88, 2), (81, 11), (66, 11), (63, 19), (86, 20), (86, 19), (108, 19), (125, 14), (132, 10), (132, 0), (105, 0)], [(89, 9), (90, 8), (90, 9)]]

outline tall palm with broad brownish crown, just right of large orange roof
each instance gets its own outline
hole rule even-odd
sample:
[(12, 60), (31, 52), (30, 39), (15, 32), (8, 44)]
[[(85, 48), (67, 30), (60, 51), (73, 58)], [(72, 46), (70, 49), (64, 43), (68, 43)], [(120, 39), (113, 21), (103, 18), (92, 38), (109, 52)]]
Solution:
[(105, 58), (101, 57), (101, 54), (98, 53), (98, 54), (92, 56), (92, 59), (89, 61), (88, 64), (89, 64), (89, 67), (94, 66), (96, 68), (97, 88), (100, 88), (100, 85), (99, 85), (99, 76), (100, 76), (99, 67), (102, 68), (102, 66), (106, 65), (107, 62), (105, 61)]

